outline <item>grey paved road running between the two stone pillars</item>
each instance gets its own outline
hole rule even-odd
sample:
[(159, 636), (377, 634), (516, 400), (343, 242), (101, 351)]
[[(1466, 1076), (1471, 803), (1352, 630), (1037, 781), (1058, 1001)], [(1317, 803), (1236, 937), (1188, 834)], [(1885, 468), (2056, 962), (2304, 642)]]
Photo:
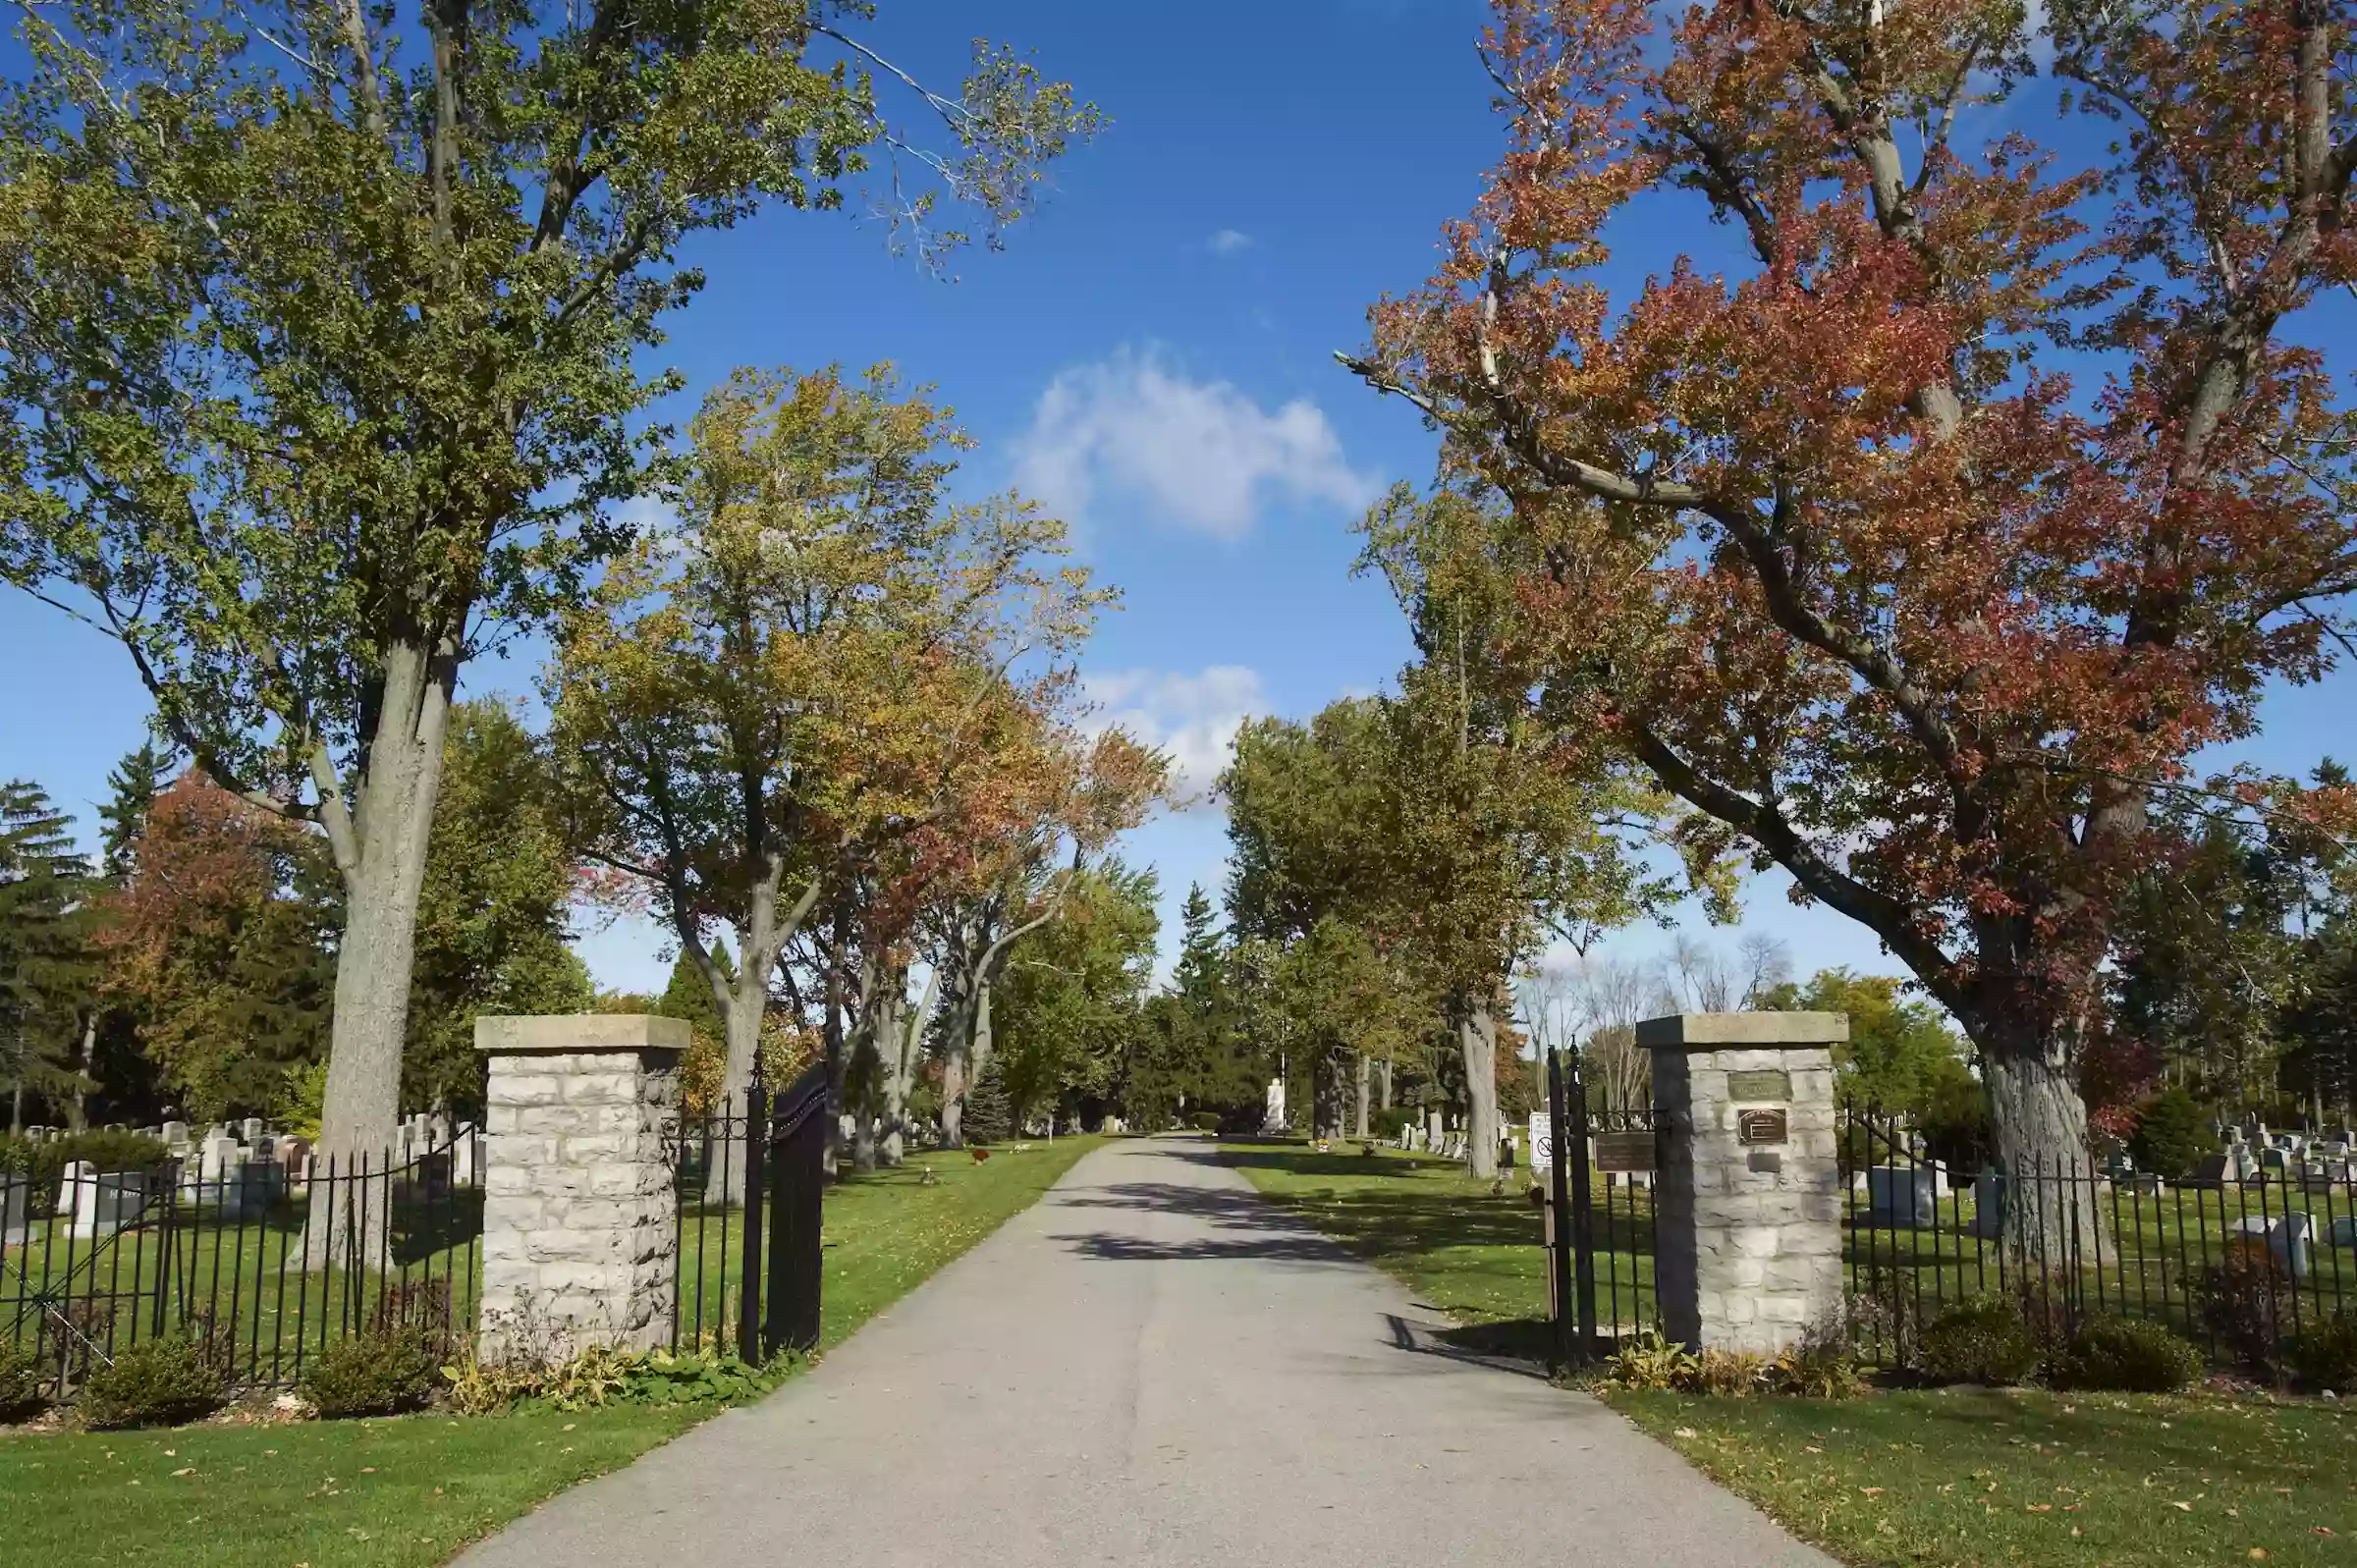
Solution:
[(808, 1377), (460, 1563), (1831, 1568), (1417, 1323), (1204, 1144), (1110, 1144)]

